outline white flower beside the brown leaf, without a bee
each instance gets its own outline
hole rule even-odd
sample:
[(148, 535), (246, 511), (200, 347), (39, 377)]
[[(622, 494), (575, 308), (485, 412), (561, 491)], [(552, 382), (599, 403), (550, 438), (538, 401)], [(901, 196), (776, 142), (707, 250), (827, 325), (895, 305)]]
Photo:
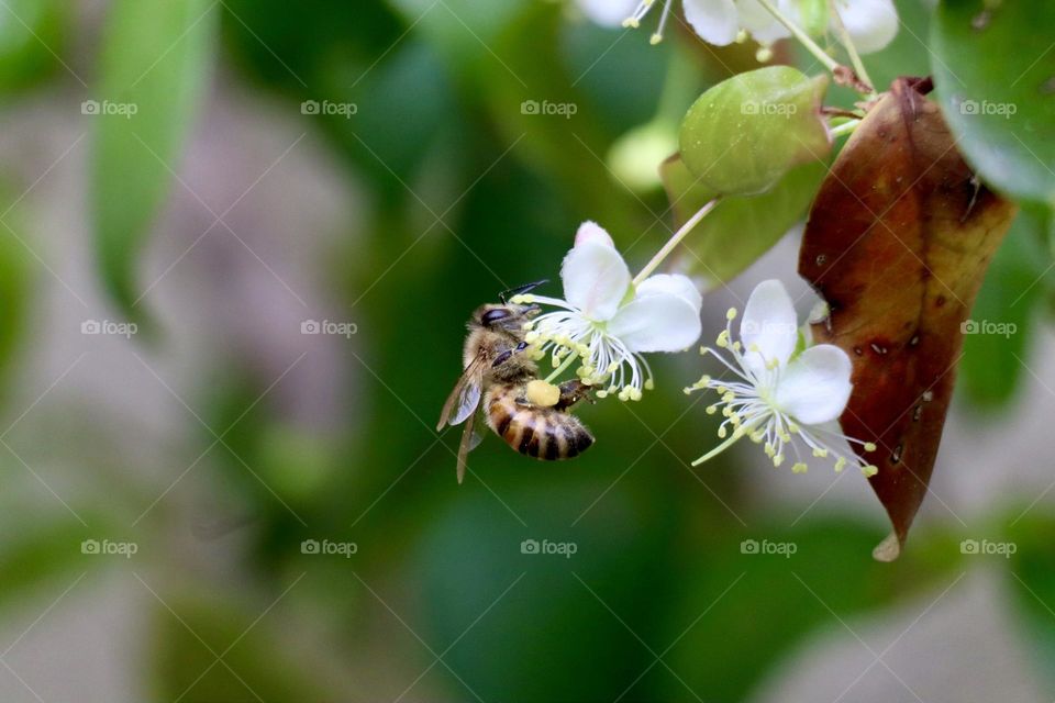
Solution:
[[(798, 437), (814, 457), (832, 456), (835, 470), (842, 471), (846, 456), (833, 449), (820, 438), (820, 434), (862, 445), (866, 451), (875, 451), (876, 445), (846, 437), (822, 427), (837, 419), (846, 409), (853, 386), (849, 382), (852, 365), (846, 353), (831, 344), (820, 344), (796, 355), (798, 321), (791, 298), (778, 280), (758, 283), (752, 291), (740, 324), (740, 341), (732, 339), (732, 321), (736, 310), (726, 314), (725, 331), (718, 337), (718, 346), (732, 357), (709, 347), (702, 354), (713, 354), (732, 371), (737, 380), (712, 379), (704, 376), (686, 393), (712, 389), (721, 395), (707, 409), (708, 413), (722, 411), (725, 421), (718, 436), (725, 439), (692, 462), (702, 464), (720, 454), (744, 436), (765, 446), (766, 455), (774, 466), (785, 460), (785, 448), (790, 446), (796, 456), (791, 470), (806, 471)], [(730, 427), (732, 434), (730, 436)], [(726, 438), (728, 437), (728, 438)], [(853, 455), (853, 461), (865, 476), (875, 476), (877, 468)]]

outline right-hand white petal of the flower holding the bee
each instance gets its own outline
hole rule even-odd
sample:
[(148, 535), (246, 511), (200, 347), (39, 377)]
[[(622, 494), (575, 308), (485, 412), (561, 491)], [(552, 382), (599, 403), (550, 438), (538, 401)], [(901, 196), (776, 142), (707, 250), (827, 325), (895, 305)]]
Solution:
[(637, 295), (619, 309), (608, 323), (608, 333), (631, 352), (680, 352), (700, 338), (700, 309), (686, 300), (686, 294), (685, 290), (652, 290)]

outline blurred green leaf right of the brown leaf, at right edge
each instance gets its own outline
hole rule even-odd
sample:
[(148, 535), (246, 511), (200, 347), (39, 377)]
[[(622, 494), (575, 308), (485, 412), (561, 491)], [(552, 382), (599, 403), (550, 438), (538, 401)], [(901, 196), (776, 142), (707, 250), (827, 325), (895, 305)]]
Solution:
[(973, 408), (993, 410), (1010, 401), (1029, 362), (1030, 333), (1039, 322), (1033, 312), (1052, 291), (1052, 281), (1044, 280), (1051, 255), (1040, 210), (1019, 213), (963, 328), (960, 382)]

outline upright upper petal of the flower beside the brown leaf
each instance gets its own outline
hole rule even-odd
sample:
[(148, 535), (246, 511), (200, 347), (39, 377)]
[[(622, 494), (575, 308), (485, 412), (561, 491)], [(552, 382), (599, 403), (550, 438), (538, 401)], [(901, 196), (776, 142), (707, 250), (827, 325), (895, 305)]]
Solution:
[(799, 325), (784, 283), (770, 279), (755, 286), (740, 323), (740, 339), (744, 361), (755, 376), (760, 377), (768, 364), (788, 362), (799, 339)]

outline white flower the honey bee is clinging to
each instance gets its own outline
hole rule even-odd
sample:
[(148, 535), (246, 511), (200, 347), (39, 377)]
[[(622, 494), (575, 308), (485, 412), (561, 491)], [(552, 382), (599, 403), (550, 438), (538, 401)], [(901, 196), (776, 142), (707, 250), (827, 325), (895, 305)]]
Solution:
[(696, 286), (685, 276), (665, 274), (635, 286), (612, 238), (593, 222), (579, 226), (560, 279), (564, 300), (514, 298), (560, 309), (528, 323), (525, 341), (536, 346), (540, 358), (548, 352), (554, 368), (577, 355), (579, 377), (607, 384), (598, 391), (600, 398), (618, 391), (621, 400), (640, 400), (642, 389), (652, 388), (652, 371), (642, 355), (680, 352), (700, 337), (703, 301)]

